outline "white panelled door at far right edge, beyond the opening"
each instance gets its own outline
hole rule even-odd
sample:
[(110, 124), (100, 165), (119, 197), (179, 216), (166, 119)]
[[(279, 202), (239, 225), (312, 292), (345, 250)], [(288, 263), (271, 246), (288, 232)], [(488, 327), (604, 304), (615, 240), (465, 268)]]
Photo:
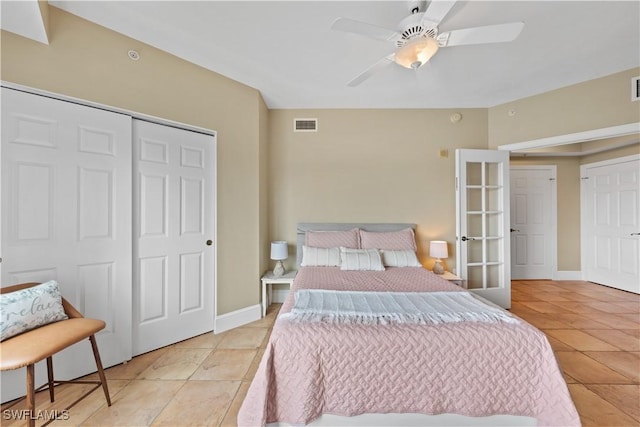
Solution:
[(582, 165), (585, 280), (640, 293), (640, 156)]

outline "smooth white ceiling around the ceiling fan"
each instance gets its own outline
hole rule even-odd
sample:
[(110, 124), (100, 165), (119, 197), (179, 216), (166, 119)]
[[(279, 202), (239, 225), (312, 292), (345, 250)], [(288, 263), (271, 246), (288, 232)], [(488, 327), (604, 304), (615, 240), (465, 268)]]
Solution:
[(524, 30), (510, 43), (441, 48), (417, 71), (391, 64), (355, 88), (346, 83), (393, 45), (331, 24), (395, 29), (410, 2), (49, 3), (254, 87), (269, 108), (490, 107), (640, 66), (637, 0), (459, 1), (441, 32), (514, 21)]

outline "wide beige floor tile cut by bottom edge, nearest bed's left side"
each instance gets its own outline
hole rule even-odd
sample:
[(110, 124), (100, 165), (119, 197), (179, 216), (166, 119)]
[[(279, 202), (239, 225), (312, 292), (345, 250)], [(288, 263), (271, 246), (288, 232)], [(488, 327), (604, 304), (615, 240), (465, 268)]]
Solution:
[(187, 381), (152, 425), (218, 426), (239, 386), (240, 381)]

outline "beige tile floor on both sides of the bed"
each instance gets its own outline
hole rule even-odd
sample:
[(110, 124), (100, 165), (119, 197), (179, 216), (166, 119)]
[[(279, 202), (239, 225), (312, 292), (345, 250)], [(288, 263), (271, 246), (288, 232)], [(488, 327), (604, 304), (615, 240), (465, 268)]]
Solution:
[[(512, 312), (549, 337), (585, 427), (640, 426), (640, 296), (588, 282), (514, 281), (512, 300)], [(96, 390), (50, 425), (236, 425), (278, 309), (107, 369), (111, 407)], [(54, 405), (39, 393), (36, 407), (64, 408), (84, 387), (59, 386)], [(3, 426), (24, 425), (5, 413)]]

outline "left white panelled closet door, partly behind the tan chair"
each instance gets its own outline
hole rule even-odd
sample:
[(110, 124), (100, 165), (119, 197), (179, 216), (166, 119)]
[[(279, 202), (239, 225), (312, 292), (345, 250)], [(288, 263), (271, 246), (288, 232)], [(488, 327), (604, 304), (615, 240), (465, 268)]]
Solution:
[[(2, 88), (1, 188), (2, 286), (57, 280), (106, 322), (103, 364), (130, 359), (131, 118)], [(60, 379), (94, 372), (88, 341), (54, 367)], [(4, 374), (3, 400), (23, 393), (24, 371)]]

